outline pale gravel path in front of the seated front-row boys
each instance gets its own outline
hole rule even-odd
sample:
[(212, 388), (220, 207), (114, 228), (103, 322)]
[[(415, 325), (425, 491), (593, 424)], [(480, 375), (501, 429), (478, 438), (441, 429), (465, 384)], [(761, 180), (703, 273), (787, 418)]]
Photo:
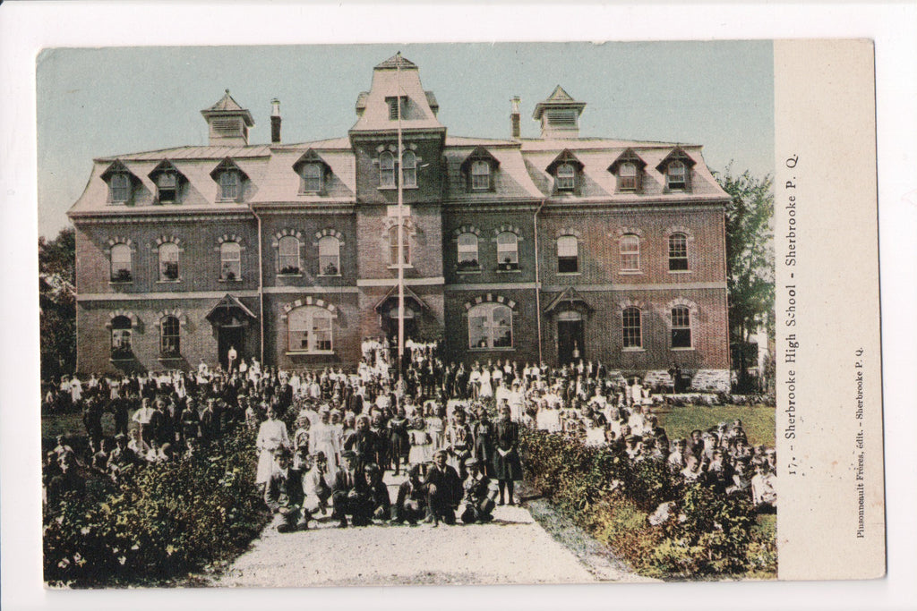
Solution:
[[(402, 479), (386, 475), (392, 499)], [(536, 510), (547, 512), (545, 504)], [(309, 530), (288, 534), (278, 533), (272, 524), (212, 584), (303, 587), (642, 581), (620, 564), (602, 560), (564, 530), (558, 539), (577, 550), (569, 551), (524, 507), (497, 507), (494, 520), (485, 525), (336, 526), (330, 516), (310, 523)]]

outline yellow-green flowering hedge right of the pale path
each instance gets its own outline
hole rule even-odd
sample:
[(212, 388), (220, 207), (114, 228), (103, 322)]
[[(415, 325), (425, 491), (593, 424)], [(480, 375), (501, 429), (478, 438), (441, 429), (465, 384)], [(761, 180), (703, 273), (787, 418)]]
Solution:
[[(545, 431), (524, 431), (526, 480), (637, 573), (661, 579), (777, 576), (773, 522), (757, 526), (745, 496), (685, 485), (668, 465)], [(649, 516), (670, 503), (671, 518)], [(767, 528), (769, 527), (769, 528)]]

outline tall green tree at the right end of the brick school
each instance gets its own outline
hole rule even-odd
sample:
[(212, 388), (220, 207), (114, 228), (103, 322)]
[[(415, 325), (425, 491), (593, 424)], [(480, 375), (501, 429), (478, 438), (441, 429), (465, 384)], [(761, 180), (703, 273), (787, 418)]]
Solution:
[(730, 343), (748, 341), (762, 325), (774, 334), (773, 179), (749, 171), (735, 176), (732, 164), (716, 180), (732, 197), (726, 205), (726, 286)]

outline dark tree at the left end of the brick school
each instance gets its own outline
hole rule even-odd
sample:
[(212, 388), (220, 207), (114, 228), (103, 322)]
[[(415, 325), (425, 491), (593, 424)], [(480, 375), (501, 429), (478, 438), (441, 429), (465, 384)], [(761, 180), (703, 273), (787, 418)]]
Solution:
[(39, 237), (41, 377), (58, 379), (76, 368), (76, 240), (72, 227), (50, 242)]

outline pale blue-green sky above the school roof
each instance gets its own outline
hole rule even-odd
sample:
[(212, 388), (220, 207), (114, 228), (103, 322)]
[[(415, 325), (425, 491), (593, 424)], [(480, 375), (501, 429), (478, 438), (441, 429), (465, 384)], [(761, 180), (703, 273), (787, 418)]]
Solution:
[(69, 224), (93, 158), (206, 144), (200, 110), (226, 89), (255, 119), (250, 144), (270, 142), (275, 97), (283, 142), (346, 136), (373, 66), (399, 50), (450, 136), (508, 137), (518, 95), (522, 136), (536, 137), (535, 104), (559, 84), (587, 103), (580, 136), (701, 144), (714, 171), (773, 172), (769, 41), (45, 49), (39, 235)]

